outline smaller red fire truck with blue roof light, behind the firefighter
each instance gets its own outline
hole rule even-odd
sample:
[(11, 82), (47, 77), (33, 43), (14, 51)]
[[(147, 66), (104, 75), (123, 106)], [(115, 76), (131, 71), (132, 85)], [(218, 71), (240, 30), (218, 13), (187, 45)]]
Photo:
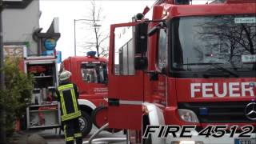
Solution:
[(60, 70), (69, 70), (71, 82), (78, 86), (78, 102), (82, 110), (79, 122), (84, 136), (90, 133), (93, 123), (100, 127), (107, 121), (107, 60), (94, 55), (94, 52), (88, 52), (87, 56), (66, 58)]

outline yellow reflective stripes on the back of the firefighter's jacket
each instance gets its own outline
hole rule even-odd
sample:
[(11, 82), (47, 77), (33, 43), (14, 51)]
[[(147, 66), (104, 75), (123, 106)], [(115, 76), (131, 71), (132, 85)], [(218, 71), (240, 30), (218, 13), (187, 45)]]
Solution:
[[(66, 110), (66, 105), (65, 105), (65, 98), (63, 96), (63, 91), (66, 90), (70, 90), (71, 93), (71, 98), (72, 98), (72, 103), (74, 106), (74, 112), (68, 114), (67, 110)], [(77, 98), (75, 96), (74, 93), (74, 86), (73, 84), (67, 84), (67, 85), (63, 85), (63, 86), (58, 86), (58, 91), (60, 94), (60, 99), (61, 99), (61, 106), (62, 106), (62, 121), (67, 121), (73, 118), (78, 118), (81, 116), (81, 111), (78, 110), (78, 102), (77, 102)]]

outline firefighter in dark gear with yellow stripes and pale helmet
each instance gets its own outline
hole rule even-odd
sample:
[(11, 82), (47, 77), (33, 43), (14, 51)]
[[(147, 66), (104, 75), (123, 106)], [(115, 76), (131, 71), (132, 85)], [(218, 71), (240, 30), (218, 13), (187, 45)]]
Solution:
[(70, 71), (64, 70), (59, 75), (60, 86), (56, 90), (58, 101), (61, 104), (62, 124), (66, 144), (82, 144), (82, 133), (80, 131), (78, 118), (81, 110), (78, 106), (78, 88), (70, 82)]

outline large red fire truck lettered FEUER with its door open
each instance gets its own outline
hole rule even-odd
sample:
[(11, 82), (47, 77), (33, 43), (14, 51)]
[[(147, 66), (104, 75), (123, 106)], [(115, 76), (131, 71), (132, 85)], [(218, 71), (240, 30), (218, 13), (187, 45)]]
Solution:
[[(110, 128), (130, 142), (255, 143), (256, 2), (159, 0), (150, 13), (110, 26)], [(184, 138), (168, 126), (196, 128)]]

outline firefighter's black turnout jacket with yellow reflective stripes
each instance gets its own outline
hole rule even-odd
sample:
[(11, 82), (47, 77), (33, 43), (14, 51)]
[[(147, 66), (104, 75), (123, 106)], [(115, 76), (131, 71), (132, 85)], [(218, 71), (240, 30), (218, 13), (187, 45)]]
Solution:
[(61, 105), (62, 122), (81, 116), (78, 87), (74, 83), (63, 83), (58, 86), (56, 95)]

